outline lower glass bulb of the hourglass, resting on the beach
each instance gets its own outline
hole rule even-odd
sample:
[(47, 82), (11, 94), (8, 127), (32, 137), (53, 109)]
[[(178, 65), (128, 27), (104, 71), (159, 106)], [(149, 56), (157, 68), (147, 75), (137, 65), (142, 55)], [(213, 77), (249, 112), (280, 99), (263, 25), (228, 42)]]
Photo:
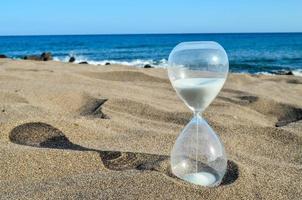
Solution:
[(198, 114), (176, 140), (171, 153), (174, 175), (202, 186), (220, 184), (227, 167), (222, 143)]

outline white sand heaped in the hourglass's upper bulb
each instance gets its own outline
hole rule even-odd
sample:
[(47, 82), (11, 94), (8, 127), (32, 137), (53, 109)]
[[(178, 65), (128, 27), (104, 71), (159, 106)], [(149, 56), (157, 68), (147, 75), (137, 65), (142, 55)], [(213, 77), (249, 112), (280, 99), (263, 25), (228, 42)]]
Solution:
[(216, 97), (225, 78), (185, 78), (173, 82), (177, 93), (195, 110), (204, 110)]

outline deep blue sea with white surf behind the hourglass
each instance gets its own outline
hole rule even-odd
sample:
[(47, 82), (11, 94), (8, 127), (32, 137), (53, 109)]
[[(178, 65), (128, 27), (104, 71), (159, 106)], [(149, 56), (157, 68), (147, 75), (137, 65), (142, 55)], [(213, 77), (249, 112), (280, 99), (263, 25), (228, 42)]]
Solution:
[(18, 59), (50, 51), (55, 60), (64, 62), (75, 56), (77, 62), (96, 65), (165, 67), (175, 45), (198, 40), (220, 43), (231, 72), (302, 74), (302, 33), (1, 36), (0, 54)]

